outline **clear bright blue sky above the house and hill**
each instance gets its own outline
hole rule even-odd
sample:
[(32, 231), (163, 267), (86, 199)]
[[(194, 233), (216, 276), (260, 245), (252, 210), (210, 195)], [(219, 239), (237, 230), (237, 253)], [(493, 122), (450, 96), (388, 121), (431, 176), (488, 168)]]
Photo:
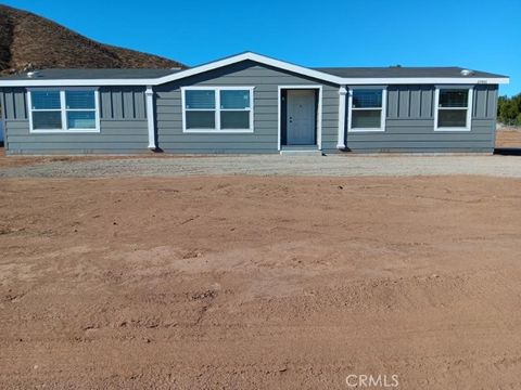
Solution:
[(461, 66), (521, 93), (521, 0), (17, 0), (103, 43), (194, 66), (243, 51), (303, 66)]

